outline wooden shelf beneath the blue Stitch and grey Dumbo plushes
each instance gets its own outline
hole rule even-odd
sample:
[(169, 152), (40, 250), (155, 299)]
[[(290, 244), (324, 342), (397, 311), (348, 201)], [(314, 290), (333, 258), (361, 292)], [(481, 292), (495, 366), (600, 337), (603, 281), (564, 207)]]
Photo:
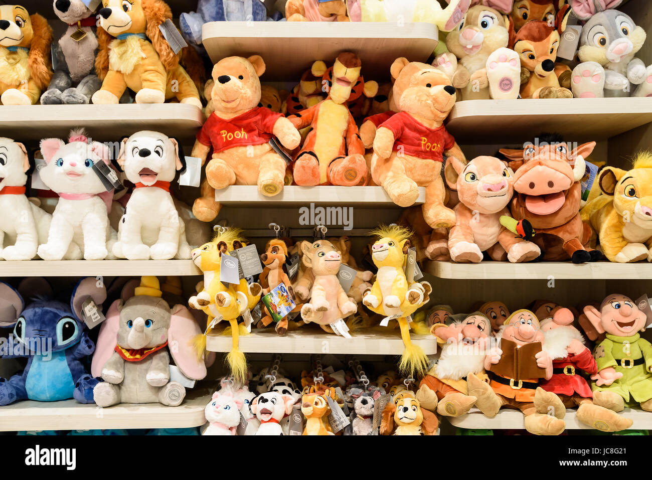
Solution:
[(188, 391), (178, 407), (158, 403), (98, 407), (75, 400), (25, 400), (0, 407), (0, 430), (106, 430), (109, 428), (192, 428), (206, 422), (204, 408), (211, 400), (206, 389)]

